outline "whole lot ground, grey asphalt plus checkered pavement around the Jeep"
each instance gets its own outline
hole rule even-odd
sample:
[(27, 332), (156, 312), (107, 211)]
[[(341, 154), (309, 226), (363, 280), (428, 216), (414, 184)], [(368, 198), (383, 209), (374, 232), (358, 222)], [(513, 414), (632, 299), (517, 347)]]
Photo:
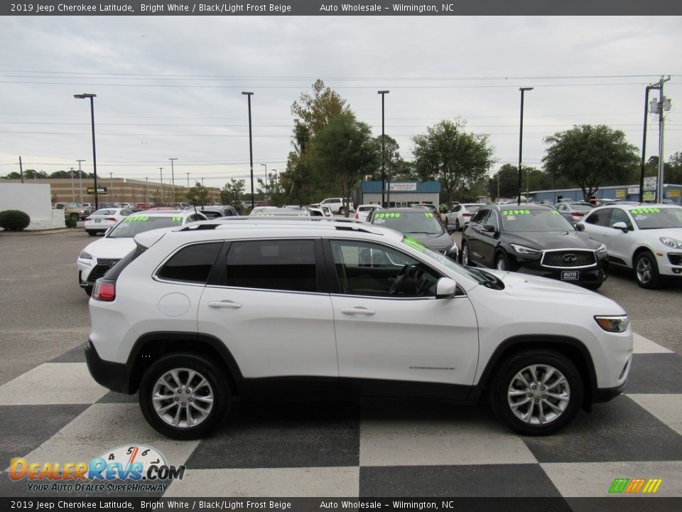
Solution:
[[(625, 272), (607, 279), (599, 292), (624, 306), (638, 335), (629, 387), (551, 437), (513, 434), (485, 404), (340, 400), (237, 405), (210, 439), (177, 442), (148, 427), (136, 397), (87, 373), (75, 260), (92, 240), (80, 229), (0, 233), (4, 467), (138, 443), (188, 468), (150, 496), (608, 496), (614, 479), (637, 477), (663, 479), (656, 496), (682, 497), (680, 283), (650, 291)], [(25, 482), (2, 475), (0, 496), (25, 495)]]

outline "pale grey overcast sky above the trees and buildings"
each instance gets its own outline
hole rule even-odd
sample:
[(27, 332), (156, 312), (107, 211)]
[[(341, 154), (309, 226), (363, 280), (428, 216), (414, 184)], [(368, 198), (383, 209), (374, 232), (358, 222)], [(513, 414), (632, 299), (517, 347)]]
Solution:
[[(220, 186), (282, 170), (291, 151), (291, 104), (317, 78), (375, 135), (412, 159), (411, 137), (460, 117), (489, 134), (497, 164), (540, 166), (543, 137), (575, 124), (622, 129), (641, 149), (644, 90), (660, 76), (673, 102), (666, 159), (682, 150), (682, 17), (3, 17), (0, 18), (0, 176), (23, 169), (97, 171), (106, 178)], [(651, 92), (651, 98), (658, 92)], [(649, 115), (647, 155), (658, 154)], [(247, 186), (248, 186), (247, 179)], [(247, 188), (248, 191), (248, 188)]]

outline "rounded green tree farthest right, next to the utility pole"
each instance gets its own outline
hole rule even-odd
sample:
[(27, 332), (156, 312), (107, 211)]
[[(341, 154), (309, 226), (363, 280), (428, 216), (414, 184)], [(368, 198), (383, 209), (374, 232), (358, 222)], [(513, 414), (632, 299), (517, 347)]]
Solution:
[(603, 124), (583, 124), (545, 137), (549, 144), (542, 161), (551, 176), (575, 183), (589, 201), (600, 186), (623, 183), (637, 166), (637, 147), (625, 134)]

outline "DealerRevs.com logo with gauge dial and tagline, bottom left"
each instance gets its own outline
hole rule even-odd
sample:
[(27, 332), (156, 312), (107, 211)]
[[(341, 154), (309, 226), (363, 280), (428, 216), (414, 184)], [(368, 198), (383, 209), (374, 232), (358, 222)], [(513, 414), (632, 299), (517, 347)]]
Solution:
[(9, 478), (26, 480), (31, 492), (166, 491), (182, 480), (185, 466), (171, 466), (161, 452), (142, 444), (117, 447), (90, 462), (31, 462), (11, 459)]

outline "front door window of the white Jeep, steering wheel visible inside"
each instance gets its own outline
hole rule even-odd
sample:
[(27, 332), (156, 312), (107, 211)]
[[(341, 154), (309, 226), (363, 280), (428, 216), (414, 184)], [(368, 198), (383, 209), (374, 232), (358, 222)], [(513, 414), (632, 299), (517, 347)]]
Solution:
[(352, 240), (331, 240), (330, 249), (342, 294), (435, 297), (442, 276), (404, 252)]

